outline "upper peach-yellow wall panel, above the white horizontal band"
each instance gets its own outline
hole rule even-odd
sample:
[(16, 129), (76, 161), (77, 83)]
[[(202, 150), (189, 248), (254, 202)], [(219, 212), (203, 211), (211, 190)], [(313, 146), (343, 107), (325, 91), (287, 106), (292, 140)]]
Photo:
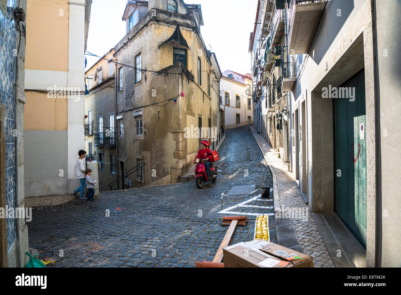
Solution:
[(27, 0), (25, 69), (68, 71), (68, 31), (67, 0)]

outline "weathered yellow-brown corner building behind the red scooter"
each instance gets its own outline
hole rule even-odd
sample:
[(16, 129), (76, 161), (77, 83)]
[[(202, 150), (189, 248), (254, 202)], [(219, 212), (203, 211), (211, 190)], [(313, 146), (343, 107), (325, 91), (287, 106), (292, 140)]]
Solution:
[[(128, 1), (123, 20), (126, 36), (87, 71), (95, 80), (85, 104), (85, 113), (93, 112), (94, 130), (87, 149), (93, 140), (93, 154), (104, 165), (100, 190), (178, 182), (202, 137), (213, 148), (212, 134), (191, 131), (219, 129), (221, 71), (200, 34), (201, 6)], [(110, 60), (114, 74), (105, 67)], [(145, 166), (137, 169), (141, 163)]]

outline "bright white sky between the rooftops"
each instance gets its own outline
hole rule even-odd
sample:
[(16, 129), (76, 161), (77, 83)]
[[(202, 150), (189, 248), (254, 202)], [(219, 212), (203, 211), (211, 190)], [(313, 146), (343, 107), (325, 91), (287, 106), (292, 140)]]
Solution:
[[(257, 0), (184, 0), (201, 4), (201, 34), (207, 49), (216, 53), (222, 72), (250, 73), (249, 33), (253, 31)], [(87, 51), (103, 56), (126, 33), (122, 20), (126, 0), (93, 0)], [(99, 58), (87, 56), (87, 68)]]

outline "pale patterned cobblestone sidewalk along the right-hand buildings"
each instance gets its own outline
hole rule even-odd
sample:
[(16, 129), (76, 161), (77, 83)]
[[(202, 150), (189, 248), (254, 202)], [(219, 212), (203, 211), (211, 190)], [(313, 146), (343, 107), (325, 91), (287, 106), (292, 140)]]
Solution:
[(309, 212), (307, 221), (305, 220), (306, 218), (301, 216), (299, 218), (292, 218), (304, 253), (314, 257), (315, 267), (335, 267), (310, 214), (310, 207), (305, 204), (302, 198), (301, 191), (295, 182), (294, 174), (288, 171), (288, 165), (277, 157), (275, 150), (273, 150), (266, 139), (261, 134), (257, 134), (253, 126), (250, 129), (255, 139), (259, 142), (263, 154), (269, 161), (270, 168), (275, 172), (280, 207), (306, 208)]

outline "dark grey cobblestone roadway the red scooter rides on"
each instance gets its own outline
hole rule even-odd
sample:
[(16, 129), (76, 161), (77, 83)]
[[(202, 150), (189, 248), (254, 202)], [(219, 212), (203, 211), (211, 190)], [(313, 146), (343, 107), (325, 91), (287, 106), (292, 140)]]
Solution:
[[(219, 149), (215, 183), (199, 190), (189, 181), (165, 186), (101, 192), (93, 202), (73, 201), (56, 207), (32, 210), (27, 222), (29, 247), (41, 259), (53, 257), (53, 267), (194, 267), (196, 261), (212, 261), (228, 226), (219, 214), (250, 197), (224, 197), (233, 186), (272, 186), (249, 125), (226, 130)], [(245, 174), (245, 178), (229, 178)], [(254, 200), (248, 205), (269, 201)], [(115, 208), (126, 208), (115, 213)], [(106, 210), (110, 216), (106, 216)], [(238, 207), (235, 211), (273, 213), (273, 208)], [(237, 215), (237, 214), (235, 214)], [(237, 226), (231, 244), (253, 239), (255, 217)], [(276, 242), (274, 216), (269, 220), (270, 240)], [(59, 257), (62, 253), (63, 257)]]

